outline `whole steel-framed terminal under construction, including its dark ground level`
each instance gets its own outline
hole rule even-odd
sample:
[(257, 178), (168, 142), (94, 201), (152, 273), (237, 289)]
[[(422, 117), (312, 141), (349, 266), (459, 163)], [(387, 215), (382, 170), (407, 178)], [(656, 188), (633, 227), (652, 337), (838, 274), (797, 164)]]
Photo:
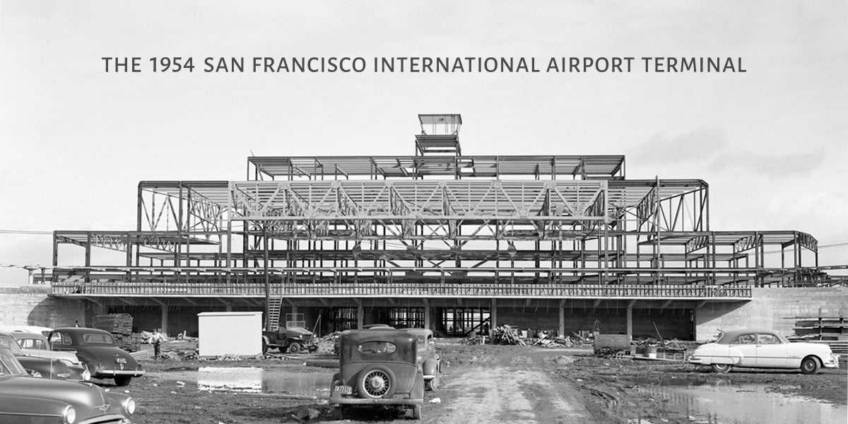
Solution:
[[(705, 304), (828, 278), (809, 234), (712, 230), (705, 181), (628, 179), (620, 155), (464, 155), (459, 114), (419, 120), (411, 156), (250, 157), (246, 181), (142, 181), (135, 231), (54, 233), (51, 295), (190, 331), (197, 311), (265, 309), (266, 326), (298, 313), (323, 331), (662, 322), (695, 338)], [(65, 265), (65, 245), (84, 264)]]

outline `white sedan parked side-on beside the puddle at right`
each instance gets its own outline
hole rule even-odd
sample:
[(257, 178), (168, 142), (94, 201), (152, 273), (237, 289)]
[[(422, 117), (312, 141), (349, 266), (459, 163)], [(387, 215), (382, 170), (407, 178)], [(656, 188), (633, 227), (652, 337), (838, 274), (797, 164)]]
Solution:
[(804, 374), (817, 374), (822, 368), (838, 368), (839, 358), (826, 344), (789, 343), (773, 330), (735, 330), (722, 333), (715, 343), (700, 345), (689, 363), (710, 365), (713, 372), (728, 372), (734, 366), (746, 368), (801, 368)]

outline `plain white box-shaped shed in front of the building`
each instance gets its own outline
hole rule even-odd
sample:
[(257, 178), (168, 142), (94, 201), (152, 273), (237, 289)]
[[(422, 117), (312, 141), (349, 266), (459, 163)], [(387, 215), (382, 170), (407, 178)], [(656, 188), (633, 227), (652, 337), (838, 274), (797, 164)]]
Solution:
[(201, 312), (198, 333), (201, 358), (262, 354), (262, 312)]

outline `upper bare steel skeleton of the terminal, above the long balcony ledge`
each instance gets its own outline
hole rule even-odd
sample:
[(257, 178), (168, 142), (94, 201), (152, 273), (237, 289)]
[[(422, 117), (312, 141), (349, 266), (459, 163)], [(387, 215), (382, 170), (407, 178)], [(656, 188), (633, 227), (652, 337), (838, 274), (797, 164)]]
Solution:
[[(417, 136), (416, 156), (251, 157), (248, 181), (142, 181), (136, 231), (55, 233), (54, 285), (238, 287), (267, 274), (277, 285), (744, 287), (827, 277), (809, 234), (711, 231), (705, 181), (628, 180), (623, 156), (462, 156), (457, 130)], [(64, 244), (85, 248), (85, 263), (59, 267)], [(126, 260), (106, 264), (92, 248)]]

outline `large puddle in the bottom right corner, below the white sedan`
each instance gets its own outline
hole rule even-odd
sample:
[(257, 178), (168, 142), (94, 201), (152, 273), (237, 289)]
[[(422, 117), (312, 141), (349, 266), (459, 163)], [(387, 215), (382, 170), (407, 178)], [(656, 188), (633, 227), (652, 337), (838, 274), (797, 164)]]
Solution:
[[(659, 383), (659, 384), (658, 384)], [(848, 409), (841, 404), (767, 392), (765, 384), (685, 385), (677, 380), (656, 382), (639, 391), (661, 401), (693, 422), (710, 424), (848, 424)]]

